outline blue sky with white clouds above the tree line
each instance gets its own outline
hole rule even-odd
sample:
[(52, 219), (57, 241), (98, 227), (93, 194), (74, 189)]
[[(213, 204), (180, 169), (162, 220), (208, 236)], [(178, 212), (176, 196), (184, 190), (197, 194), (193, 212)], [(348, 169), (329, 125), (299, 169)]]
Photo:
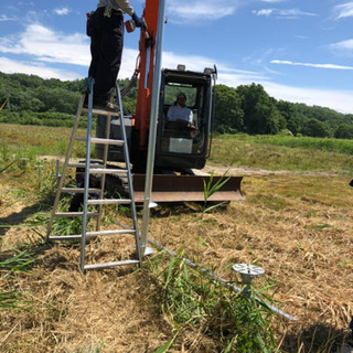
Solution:
[[(131, 0), (138, 14), (143, 2)], [(85, 13), (96, 1), (0, 2), (0, 71), (85, 77)], [(353, 1), (167, 0), (163, 67), (203, 71), (218, 82), (253, 82), (276, 99), (353, 114)], [(126, 20), (129, 19), (126, 15)], [(119, 77), (130, 77), (139, 33), (126, 33)]]

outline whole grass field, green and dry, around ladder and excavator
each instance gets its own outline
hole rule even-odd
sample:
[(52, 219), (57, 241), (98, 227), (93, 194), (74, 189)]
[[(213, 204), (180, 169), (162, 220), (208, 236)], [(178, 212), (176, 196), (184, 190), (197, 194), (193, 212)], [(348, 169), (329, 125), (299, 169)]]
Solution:
[[(245, 200), (210, 213), (197, 204), (151, 212), (149, 238), (236, 286), (232, 265), (263, 267), (256, 295), (293, 322), (156, 247), (140, 270), (83, 276), (77, 244), (43, 244), (71, 129), (0, 129), (1, 352), (342, 352), (353, 315), (353, 142), (215, 139), (207, 170), (246, 169)], [(104, 228), (126, 221), (115, 212)], [(90, 256), (126, 244), (95, 240)]]

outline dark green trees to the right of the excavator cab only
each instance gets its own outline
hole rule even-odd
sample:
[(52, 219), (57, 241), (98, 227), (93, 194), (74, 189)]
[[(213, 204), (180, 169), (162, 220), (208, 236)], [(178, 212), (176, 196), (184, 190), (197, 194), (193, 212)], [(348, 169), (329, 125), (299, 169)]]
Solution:
[(353, 115), (277, 100), (261, 85), (216, 87), (214, 128), (217, 132), (353, 139)]

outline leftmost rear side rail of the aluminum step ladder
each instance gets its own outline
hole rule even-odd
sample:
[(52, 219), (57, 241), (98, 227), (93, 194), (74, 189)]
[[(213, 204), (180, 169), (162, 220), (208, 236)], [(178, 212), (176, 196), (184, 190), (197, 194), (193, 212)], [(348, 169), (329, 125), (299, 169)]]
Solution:
[(75, 117), (74, 127), (73, 127), (73, 130), (72, 130), (72, 133), (71, 133), (71, 137), (69, 137), (68, 147), (67, 147), (67, 150), (66, 150), (65, 162), (64, 162), (64, 165), (63, 165), (62, 174), (61, 174), (61, 176), (58, 179), (55, 201), (54, 201), (51, 218), (50, 218), (50, 222), (49, 222), (49, 225), (47, 225), (47, 229), (46, 229), (46, 242), (47, 242), (47, 239), (50, 237), (50, 234), (52, 233), (53, 222), (54, 222), (55, 213), (56, 213), (56, 210), (57, 210), (57, 206), (58, 206), (58, 201), (60, 201), (60, 197), (61, 197), (61, 194), (62, 194), (62, 189), (63, 189), (63, 184), (64, 184), (64, 181), (65, 181), (66, 169), (67, 169), (67, 164), (68, 164), (68, 161), (69, 161), (71, 152), (72, 152), (72, 149), (73, 149), (73, 146), (74, 146), (75, 135), (77, 132), (78, 122), (79, 122), (79, 118), (81, 118), (81, 115), (82, 115), (82, 109), (83, 109), (83, 105), (84, 105), (84, 100), (86, 98), (86, 95), (87, 95), (87, 90), (84, 90), (83, 94), (81, 95), (81, 98), (79, 98), (79, 104), (78, 104), (78, 109), (77, 109), (76, 117)]

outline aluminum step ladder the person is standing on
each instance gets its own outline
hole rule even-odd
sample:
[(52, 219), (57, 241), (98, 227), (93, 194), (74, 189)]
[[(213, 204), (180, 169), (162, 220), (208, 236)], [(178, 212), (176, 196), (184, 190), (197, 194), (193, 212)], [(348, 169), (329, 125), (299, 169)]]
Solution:
[[(132, 188), (132, 176), (130, 170), (130, 160), (129, 160), (129, 151), (128, 151), (128, 143), (127, 143), (127, 133), (125, 129), (125, 119), (124, 119), (124, 109), (121, 104), (121, 95), (118, 83), (116, 84), (116, 94), (118, 100), (119, 111), (108, 111), (103, 109), (97, 109), (93, 107), (93, 92), (94, 92), (94, 78), (88, 77), (85, 79), (84, 87), (82, 90), (82, 96), (78, 103), (78, 108), (76, 113), (75, 124), (72, 130), (72, 135), (69, 138), (68, 148), (66, 151), (65, 161), (63, 164), (62, 174), (58, 175), (57, 181), (57, 191), (56, 196), (51, 214), (51, 218), (49, 222), (49, 227), (46, 232), (46, 240), (47, 242), (55, 242), (55, 240), (81, 240), (81, 261), (79, 267), (83, 272), (88, 269), (95, 268), (106, 268), (113, 266), (120, 266), (120, 265), (132, 265), (138, 264), (141, 266), (142, 264), (142, 255), (140, 248), (140, 235), (138, 232), (138, 221), (137, 221), (137, 212), (136, 205), (133, 201), (133, 188)], [(88, 98), (88, 108), (85, 106), (85, 101)], [(79, 137), (77, 133), (79, 119), (83, 113), (88, 114), (87, 120), (87, 135), (86, 137)], [(98, 114), (100, 116), (106, 116), (106, 138), (94, 138), (92, 137), (92, 120), (93, 115)], [(111, 116), (118, 116), (120, 119), (120, 137), (121, 140), (109, 139), (110, 136), (110, 120)], [(86, 143), (86, 158), (85, 162), (72, 162), (72, 152), (75, 141), (81, 141)], [(99, 143), (104, 146), (103, 159), (98, 161), (90, 160), (90, 150), (93, 143)], [(122, 148), (124, 158), (125, 158), (125, 168), (108, 168), (107, 159), (108, 159), (108, 148), (109, 146), (119, 146)], [(65, 175), (72, 171), (72, 168), (79, 168), (84, 170), (84, 188), (72, 188), (72, 186), (64, 186), (65, 184)], [(107, 175), (119, 175), (128, 181), (128, 189), (129, 189), (129, 199), (107, 199), (105, 197), (105, 184), (106, 184), (106, 176)], [(93, 178), (92, 175), (100, 175), (100, 188), (93, 188), (90, 185), (89, 180)], [(82, 212), (58, 212), (60, 201), (63, 194), (83, 194), (83, 211)], [(92, 197), (93, 194), (99, 195), (98, 199)], [(101, 231), (100, 223), (101, 223), (101, 214), (103, 208), (106, 205), (118, 204), (130, 206), (132, 226), (126, 226), (119, 224), (121, 228), (118, 229), (109, 229), (109, 231)], [(94, 211), (89, 210), (92, 207), (96, 207)], [(78, 235), (53, 235), (53, 225), (54, 220), (60, 217), (82, 217), (82, 234)], [(88, 232), (87, 231), (87, 223), (88, 221), (94, 217), (96, 218), (96, 231)], [(116, 260), (109, 263), (96, 263), (96, 264), (86, 264), (86, 246), (87, 239), (97, 238), (101, 236), (114, 236), (114, 235), (121, 235), (121, 234), (130, 234), (135, 237), (135, 256), (132, 258), (126, 260)], [(133, 243), (133, 242), (132, 242)]]

